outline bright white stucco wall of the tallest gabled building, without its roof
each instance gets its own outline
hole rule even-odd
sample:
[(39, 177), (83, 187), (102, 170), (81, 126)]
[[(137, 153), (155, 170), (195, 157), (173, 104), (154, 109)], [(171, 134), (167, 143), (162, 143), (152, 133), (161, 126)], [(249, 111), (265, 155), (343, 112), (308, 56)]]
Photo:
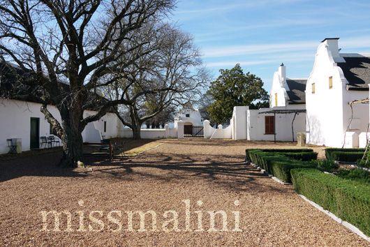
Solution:
[[(336, 43), (335, 43), (336, 42)], [(349, 140), (354, 132), (358, 136), (369, 123), (369, 106), (353, 105), (353, 122), (348, 103), (352, 100), (367, 98), (367, 91), (347, 91), (348, 81), (343, 71), (336, 66), (336, 61), (343, 61), (337, 53), (337, 40), (320, 43), (316, 52), (313, 70), (306, 84), (306, 142), (327, 147), (353, 147), (356, 141)], [(333, 54), (334, 53), (334, 56)], [(332, 76), (332, 89), (329, 89), (329, 77)], [(312, 84), (315, 83), (315, 93)], [(354, 143), (354, 144), (353, 144)], [(357, 140), (358, 143), (358, 140)]]

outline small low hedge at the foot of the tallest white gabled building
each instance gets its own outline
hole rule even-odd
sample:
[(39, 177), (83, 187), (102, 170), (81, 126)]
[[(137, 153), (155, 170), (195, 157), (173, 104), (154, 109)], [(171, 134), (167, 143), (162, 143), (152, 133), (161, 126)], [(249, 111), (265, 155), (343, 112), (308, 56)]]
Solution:
[(364, 156), (365, 149), (325, 149), (325, 156), (328, 160), (356, 162)]

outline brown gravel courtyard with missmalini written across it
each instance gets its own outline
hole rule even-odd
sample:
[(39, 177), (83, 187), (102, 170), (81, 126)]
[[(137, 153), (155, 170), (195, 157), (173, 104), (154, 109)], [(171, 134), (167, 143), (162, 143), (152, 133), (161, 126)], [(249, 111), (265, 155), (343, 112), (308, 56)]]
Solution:
[[(245, 149), (256, 147), (297, 148), (289, 143), (166, 140), (112, 163), (89, 158), (87, 167), (74, 170), (54, 167), (59, 153), (0, 161), (0, 246), (369, 246), (302, 200), (292, 186), (246, 165)], [(315, 150), (323, 157), (322, 147)], [(60, 220), (60, 232), (52, 231), (52, 217), (46, 222), (50, 231), (43, 230), (40, 211), (52, 210), (71, 213), (71, 231), (66, 218)], [(156, 231), (151, 231), (150, 215), (145, 231), (138, 231), (136, 218), (129, 231), (126, 212), (149, 210), (156, 213)], [(170, 210), (178, 214), (178, 227), (172, 221), (167, 225), (172, 231), (165, 232), (165, 220), (175, 218), (163, 216)], [(89, 220), (91, 211), (101, 211), (94, 213), (100, 223)], [(108, 220), (111, 211), (121, 212), (112, 214), (121, 229)], [(217, 215), (217, 231), (209, 232), (208, 211), (225, 211), (228, 231), (221, 232), (223, 220)], [(235, 212), (242, 232), (233, 231)]]

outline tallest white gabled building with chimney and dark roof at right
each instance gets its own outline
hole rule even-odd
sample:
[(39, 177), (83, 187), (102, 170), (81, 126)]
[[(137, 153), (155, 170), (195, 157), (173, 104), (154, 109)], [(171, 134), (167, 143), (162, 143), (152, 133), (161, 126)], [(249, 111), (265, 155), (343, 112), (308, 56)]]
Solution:
[[(339, 53), (339, 38), (325, 38), (306, 84), (306, 143), (359, 147), (369, 125), (369, 105), (349, 103), (369, 97), (370, 57)], [(363, 146), (360, 145), (360, 146)]]

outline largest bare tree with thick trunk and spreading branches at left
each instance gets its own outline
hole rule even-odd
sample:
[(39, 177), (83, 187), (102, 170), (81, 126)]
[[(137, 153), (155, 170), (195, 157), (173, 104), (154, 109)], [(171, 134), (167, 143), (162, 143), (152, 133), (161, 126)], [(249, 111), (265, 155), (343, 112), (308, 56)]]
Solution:
[[(91, 92), (124, 77), (114, 68), (135, 65), (141, 54), (120, 58), (147, 41), (119, 47), (173, 6), (173, 0), (0, 0), (0, 51), (22, 70), (33, 72), (32, 92), (43, 102), (40, 110), (63, 142), (60, 165), (75, 166), (82, 160), (81, 133), (87, 123), (114, 105), (132, 103), (133, 99), (106, 100)], [(58, 108), (61, 123), (47, 110), (49, 104)], [(98, 113), (84, 118), (91, 106)]]

